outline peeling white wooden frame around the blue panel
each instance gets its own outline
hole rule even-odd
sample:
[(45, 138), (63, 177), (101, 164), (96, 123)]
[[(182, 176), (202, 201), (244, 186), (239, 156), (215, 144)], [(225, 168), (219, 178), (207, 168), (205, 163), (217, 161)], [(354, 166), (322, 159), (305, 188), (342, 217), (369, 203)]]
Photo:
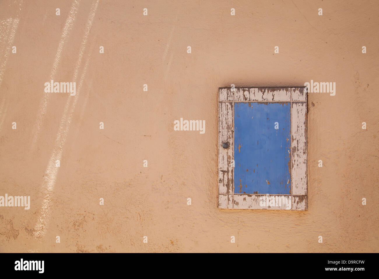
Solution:
[[(290, 195), (234, 193), (234, 102), (291, 103)], [(218, 131), (218, 208), (308, 210), (307, 92), (305, 87), (219, 88)], [(224, 143), (227, 143), (227, 148), (222, 147)], [(273, 202), (269, 202), (271, 200)]]

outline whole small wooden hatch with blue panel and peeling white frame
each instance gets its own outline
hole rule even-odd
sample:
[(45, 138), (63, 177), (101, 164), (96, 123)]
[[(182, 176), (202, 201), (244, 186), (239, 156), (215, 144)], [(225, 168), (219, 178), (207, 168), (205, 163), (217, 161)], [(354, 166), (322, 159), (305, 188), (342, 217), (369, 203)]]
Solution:
[(219, 88), (219, 208), (307, 210), (305, 87)]

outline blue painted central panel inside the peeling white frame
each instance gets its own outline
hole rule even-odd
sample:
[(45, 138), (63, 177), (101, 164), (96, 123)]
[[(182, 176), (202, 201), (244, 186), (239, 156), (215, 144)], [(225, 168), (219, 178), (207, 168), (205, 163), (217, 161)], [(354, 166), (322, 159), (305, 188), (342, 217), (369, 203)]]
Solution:
[(290, 149), (290, 102), (234, 103), (235, 194), (290, 194)]

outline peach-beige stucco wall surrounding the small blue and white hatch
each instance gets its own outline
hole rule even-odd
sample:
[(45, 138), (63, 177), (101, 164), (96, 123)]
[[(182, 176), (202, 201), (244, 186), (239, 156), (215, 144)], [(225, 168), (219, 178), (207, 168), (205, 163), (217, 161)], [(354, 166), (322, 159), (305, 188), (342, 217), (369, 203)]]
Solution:
[[(19, 2), (0, 3), (0, 195), (31, 207), (0, 207), (0, 252), (378, 252), (376, 1)], [(77, 95), (44, 99), (51, 76)], [(309, 210), (219, 210), (218, 87), (311, 79), (336, 95), (308, 96)]]

